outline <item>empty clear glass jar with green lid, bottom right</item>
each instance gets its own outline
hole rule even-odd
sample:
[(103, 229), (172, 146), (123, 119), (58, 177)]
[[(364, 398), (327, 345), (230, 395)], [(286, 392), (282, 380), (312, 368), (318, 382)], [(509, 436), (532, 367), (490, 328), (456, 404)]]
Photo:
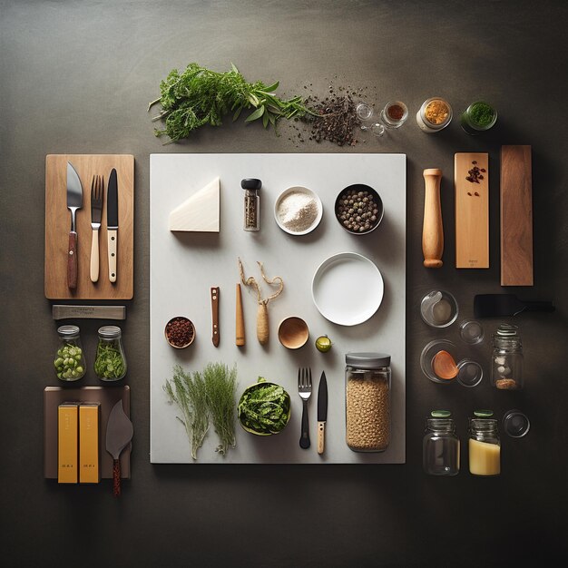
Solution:
[(429, 475), (459, 473), (459, 438), (455, 422), (447, 410), (433, 410), (426, 418), (426, 434), (422, 442), (422, 465)]

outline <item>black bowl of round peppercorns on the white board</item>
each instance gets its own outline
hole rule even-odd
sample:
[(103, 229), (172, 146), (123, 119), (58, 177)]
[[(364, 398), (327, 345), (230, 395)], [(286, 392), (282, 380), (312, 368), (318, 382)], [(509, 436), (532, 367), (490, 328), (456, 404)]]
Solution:
[(385, 210), (377, 191), (363, 183), (355, 183), (339, 192), (335, 212), (343, 229), (353, 235), (366, 235), (377, 229)]

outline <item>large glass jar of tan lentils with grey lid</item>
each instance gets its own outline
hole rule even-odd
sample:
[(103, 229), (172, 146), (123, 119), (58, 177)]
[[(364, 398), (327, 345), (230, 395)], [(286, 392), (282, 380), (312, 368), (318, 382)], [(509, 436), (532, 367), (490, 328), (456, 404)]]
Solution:
[(346, 441), (355, 452), (384, 452), (390, 442), (390, 355), (345, 356)]

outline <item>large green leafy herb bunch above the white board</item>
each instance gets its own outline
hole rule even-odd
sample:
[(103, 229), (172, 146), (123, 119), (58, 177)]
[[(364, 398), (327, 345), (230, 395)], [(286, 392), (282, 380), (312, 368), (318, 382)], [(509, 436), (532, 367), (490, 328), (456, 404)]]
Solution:
[(280, 99), (274, 93), (278, 86), (278, 82), (271, 85), (261, 81), (248, 83), (233, 64), (230, 71), (218, 73), (191, 63), (182, 73), (171, 70), (160, 83), (161, 97), (152, 101), (148, 110), (161, 103), (162, 111), (152, 121), (165, 120), (165, 128), (156, 129), (155, 133), (156, 136), (167, 134), (170, 142), (189, 138), (191, 132), (204, 124), (220, 126), (228, 113), (233, 113), (232, 119), (236, 121), (243, 109), (253, 109), (245, 122), (262, 119), (265, 128), (269, 124), (276, 127), (281, 118), (315, 114), (300, 96)]

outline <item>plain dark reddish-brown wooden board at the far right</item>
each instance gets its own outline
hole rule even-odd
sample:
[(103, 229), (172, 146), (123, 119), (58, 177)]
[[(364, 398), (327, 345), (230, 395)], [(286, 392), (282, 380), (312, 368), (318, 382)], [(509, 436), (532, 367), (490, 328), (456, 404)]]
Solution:
[(501, 147), (501, 286), (533, 286), (530, 146)]

